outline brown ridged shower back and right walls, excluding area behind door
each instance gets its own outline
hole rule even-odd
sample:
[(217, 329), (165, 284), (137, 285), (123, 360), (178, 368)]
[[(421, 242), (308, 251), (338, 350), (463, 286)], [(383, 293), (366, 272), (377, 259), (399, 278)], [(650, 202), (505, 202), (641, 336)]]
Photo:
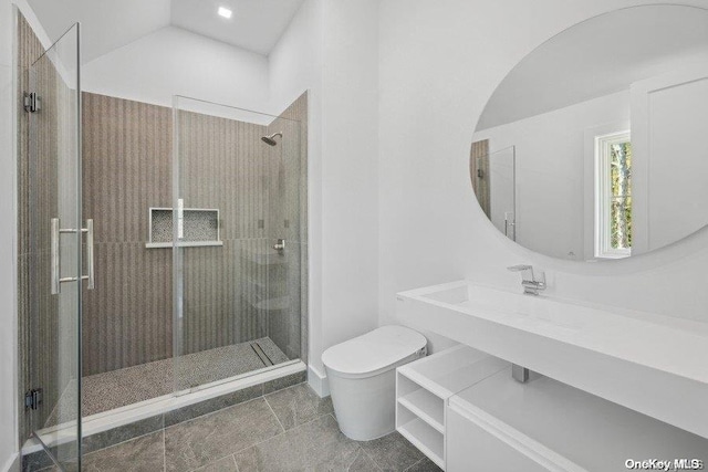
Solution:
[[(96, 244), (96, 289), (85, 293), (84, 304), (84, 375), (91, 375), (173, 353), (171, 250), (145, 248), (148, 209), (171, 207), (173, 114), (88, 93), (83, 111), (84, 218), (94, 219)], [(299, 357), (301, 235), (284, 234), (272, 216), (292, 220), (290, 231), (301, 232), (300, 147), (267, 146), (260, 140), (266, 126), (188, 112), (177, 116), (185, 207), (219, 209), (223, 243), (184, 250), (183, 354), (272, 332), (287, 333), (273, 340)], [(289, 123), (291, 134), (299, 134), (299, 124)], [(287, 170), (293, 178), (279, 176), (283, 162), (293, 167)], [(294, 245), (283, 255), (287, 264), (271, 266), (258, 254), (272, 252), (277, 238)], [(272, 277), (283, 270), (291, 301), (273, 311)]]

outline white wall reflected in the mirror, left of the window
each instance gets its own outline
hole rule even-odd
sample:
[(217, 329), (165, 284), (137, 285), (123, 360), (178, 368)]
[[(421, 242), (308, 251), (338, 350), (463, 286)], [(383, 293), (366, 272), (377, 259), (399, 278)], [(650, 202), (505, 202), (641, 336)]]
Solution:
[(585, 207), (594, 212), (585, 204), (585, 134), (605, 124), (628, 130), (628, 123), (627, 90), (475, 133), (473, 140), (489, 139), (490, 154), (516, 146), (517, 242), (554, 258), (593, 258), (585, 254), (593, 239)]

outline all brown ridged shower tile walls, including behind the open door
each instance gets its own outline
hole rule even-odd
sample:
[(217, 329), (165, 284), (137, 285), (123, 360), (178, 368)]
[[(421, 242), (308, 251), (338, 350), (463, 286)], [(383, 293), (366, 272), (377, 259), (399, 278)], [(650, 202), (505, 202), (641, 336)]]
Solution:
[[(28, 88), (27, 67), (41, 55), (42, 48), (30, 27), (20, 20), (20, 84)], [(171, 207), (171, 109), (119, 98), (83, 94), (83, 198), (84, 218), (95, 222), (96, 289), (84, 291), (84, 375), (164, 359), (173, 353), (171, 323), (171, 253), (169, 249), (146, 249), (148, 238), (148, 208)], [(18, 97), (21, 106), (21, 97)], [(303, 95), (285, 114), (300, 119), (300, 153), (289, 156), (295, 166), (298, 179), (285, 179), (287, 191), (295, 200), (281, 201), (283, 221), (290, 220), (296, 251), (287, 252), (288, 291), (294, 291), (290, 305), (279, 316), (262, 311), (244, 310), (250, 300), (252, 284), (243, 283), (244, 272), (253, 273), (249, 250), (268, 251), (281, 230), (271, 227), (266, 204), (273, 204), (280, 190), (271, 186), (279, 182), (272, 174), (278, 166), (273, 157), (288, 151), (270, 148), (260, 141), (267, 127), (204, 115), (190, 119), (202, 133), (202, 141), (195, 145), (194, 159), (188, 159), (187, 174), (191, 201), (188, 207), (219, 208), (221, 210), (223, 247), (190, 248), (185, 250), (186, 311), (184, 352), (197, 352), (240, 340), (253, 339), (273, 333), (281, 349), (290, 357), (306, 357), (306, 96)], [(29, 415), (24, 418), (21, 439), (43, 424), (60, 388), (52, 385), (56, 365), (56, 335), (51, 323), (55, 317), (44, 314), (39, 323), (31, 323), (28, 279), (30, 268), (41, 265), (29, 253), (29, 214), (34, 211), (28, 199), (29, 133), (27, 115), (20, 114), (18, 161), (18, 284), (19, 284), (19, 361), (20, 395), (38, 387), (44, 388), (43, 409), (35, 413), (34, 426)], [(198, 136), (198, 135), (196, 135)], [(302, 138), (304, 136), (304, 138)], [(198, 139), (195, 139), (197, 143)], [(266, 149), (264, 149), (266, 148)], [(302, 151), (304, 149), (304, 151)], [(271, 162), (270, 165), (268, 162)], [(191, 166), (191, 167), (190, 167)], [(295, 171), (295, 170), (293, 170)], [(304, 177), (303, 177), (304, 176)], [(293, 183), (296, 182), (296, 183)], [(37, 185), (37, 182), (35, 182)], [(190, 187), (189, 187), (190, 186)], [(258, 196), (258, 192), (261, 196)], [(293, 201), (296, 201), (294, 203)], [(262, 228), (260, 220), (263, 220)], [(295, 221), (298, 221), (295, 223)], [(304, 276), (303, 276), (304, 275)], [(271, 271), (254, 271), (254, 280), (269, 283)], [(302, 284), (300, 283), (302, 281)], [(304, 294), (304, 295), (302, 295)], [(266, 292), (264, 296), (271, 294)], [(298, 304), (298, 306), (295, 306)], [(50, 325), (48, 325), (48, 323)], [(288, 326), (281, 325), (288, 324)], [(302, 329), (299, 329), (300, 325)], [(40, 326), (35, 329), (33, 326)], [(294, 327), (298, 326), (298, 329)], [(302, 336), (303, 342), (293, 342)], [(277, 342), (278, 343), (278, 342)], [(41, 347), (38, 368), (32, 371), (30, 353)], [(34, 349), (37, 353), (37, 349)], [(38, 370), (38, 369), (34, 369)]]

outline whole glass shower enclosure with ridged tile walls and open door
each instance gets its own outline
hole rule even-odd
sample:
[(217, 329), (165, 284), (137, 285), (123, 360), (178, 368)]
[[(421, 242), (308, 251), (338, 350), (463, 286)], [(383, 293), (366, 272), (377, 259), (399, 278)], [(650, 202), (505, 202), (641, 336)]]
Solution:
[(21, 439), (74, 470), (85, 424), (306, 361), (306, 95), (96, 95), (77, 24), (18, 39)]

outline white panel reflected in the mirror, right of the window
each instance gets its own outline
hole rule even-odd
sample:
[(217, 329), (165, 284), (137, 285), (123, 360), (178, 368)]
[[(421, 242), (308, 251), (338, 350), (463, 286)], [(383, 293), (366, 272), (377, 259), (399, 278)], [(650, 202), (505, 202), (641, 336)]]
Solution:
[[(633, 254), (708, 224), (708, 70), (674, 70), (632, 86)], [(701, 105), (698, 105), (701, 104)]]

